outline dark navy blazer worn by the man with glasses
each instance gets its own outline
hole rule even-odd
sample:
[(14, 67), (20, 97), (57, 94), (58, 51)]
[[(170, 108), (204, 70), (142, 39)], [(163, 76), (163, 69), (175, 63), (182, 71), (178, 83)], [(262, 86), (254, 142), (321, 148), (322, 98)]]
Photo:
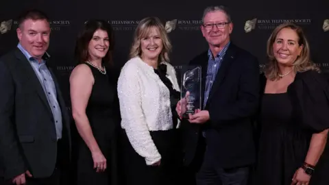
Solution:
[[(195, 57), (189, 64), (202, 66), (203, 101), (208, 51)], [(217, 167), (230, 169), (255, 162), (252, 122), (258, 110), (259, 81), (257, 58), (231, 42), (204, 108), (208, 110), (210, 120), (204, 124), (182, 121), (185, 165), (196, 160), (195, 153), (202, 132), (206, 133), (207, 146), (204, 159)]]

